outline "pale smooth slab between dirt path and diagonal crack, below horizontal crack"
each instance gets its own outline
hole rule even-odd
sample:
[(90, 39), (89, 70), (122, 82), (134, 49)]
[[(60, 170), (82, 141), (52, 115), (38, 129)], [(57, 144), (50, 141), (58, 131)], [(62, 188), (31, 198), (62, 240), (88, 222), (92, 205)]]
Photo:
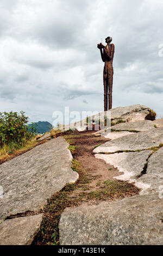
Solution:
[(141, 188), (141, 193), (143, 193), (151, 187), (151, 184), (137, 180), (137, 176), (141, 174), (151, 153), (152, 150), (144, 150), (141, 152), (115, 153), (110, 155), (96, 154), (95, 157), (104, 160), (106, 163), (113, 165), (115, 168), (118, 168), (120, 172), (124, 173), (120, 176), (116, 176), (115, 178), (117, 180), (135, 182), (135, 185)]

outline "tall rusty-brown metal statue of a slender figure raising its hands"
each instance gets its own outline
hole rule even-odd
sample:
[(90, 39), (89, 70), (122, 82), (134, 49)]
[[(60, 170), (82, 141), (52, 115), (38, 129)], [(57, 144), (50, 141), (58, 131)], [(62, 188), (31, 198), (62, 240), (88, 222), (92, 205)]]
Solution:
[[(102, 61), (105, 63), (103, 72), (104, 81), (104, 111), (112, 108), (112, 80), (113, 80), (113, 66), (112, 60), (114, 58), (114, 44), (110, 44), (112, 38), (108, 36), (105, 39), (106, 46), (102, 43), (98, 44), (97, 47), (101, 52)], [(103, 50), (102, 50), (103, 49)], [(109, 103), (108, 103), (109, 102)]]

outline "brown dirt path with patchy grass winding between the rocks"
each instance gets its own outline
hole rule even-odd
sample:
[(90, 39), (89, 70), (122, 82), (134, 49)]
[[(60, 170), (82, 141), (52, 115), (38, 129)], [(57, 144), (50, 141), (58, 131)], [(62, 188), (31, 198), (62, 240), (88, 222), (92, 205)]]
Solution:
[(98, 204), (101, 200), (120, 200), (139, 193), (134, 184), (114, 179), (122, 174), (117, 168), (95, 158), (93, 149), (109, 140), (95, 137), (92, 133), (87, 131), (64, 136), (73, 155), (72, 169), (78, 172), (79, 179), (76, 184), (65, 186), (48, 200), (41, 211), (44, 218), (33, 245), (59, 245), (58, 224), (60, 215), (67, 207), (85, 202)]

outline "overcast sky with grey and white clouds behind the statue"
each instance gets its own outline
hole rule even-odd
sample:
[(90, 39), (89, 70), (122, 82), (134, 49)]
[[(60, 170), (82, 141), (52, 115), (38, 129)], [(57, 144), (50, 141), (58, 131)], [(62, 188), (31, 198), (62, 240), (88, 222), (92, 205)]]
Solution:
[(54, 111), (103, 111), (99, 42), (115, 44), (113, 107), (163, 117), (162, 0), (1, 0), (0, 112), (52, 123)]

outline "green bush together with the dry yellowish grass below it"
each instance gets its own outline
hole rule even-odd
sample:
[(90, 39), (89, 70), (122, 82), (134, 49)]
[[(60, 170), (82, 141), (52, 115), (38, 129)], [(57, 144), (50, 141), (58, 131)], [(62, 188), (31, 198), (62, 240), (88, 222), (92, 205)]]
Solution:
[[(10, 155), (28, 150), (36, 144), (36, 127), (28, 129), (28, 117), (24, 112), (0, 112), (0, 157), (7, 160)], [(10, 158), (10, 157), (9, 157)]]

